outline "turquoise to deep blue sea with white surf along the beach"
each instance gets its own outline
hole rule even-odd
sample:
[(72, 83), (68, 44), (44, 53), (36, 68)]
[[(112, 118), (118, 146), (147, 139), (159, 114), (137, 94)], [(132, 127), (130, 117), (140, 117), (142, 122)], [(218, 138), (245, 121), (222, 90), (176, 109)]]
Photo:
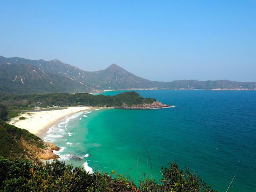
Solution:
[(158, 179), (160, 166), (177, 160), (180, 168), (196, 170), (219, 192), (227, 190), (235, 174), (229, 191), (255, 191), (255, 91), (136, 92), (175, 107), (80, 112), (50, 128), (44, 140), (61, 146), (62, 159), (75, 166), (84, 164), (86, 170), (124, 174), (138, 159), (138, 166), (126, 174), (138, 179), (146, 172)]

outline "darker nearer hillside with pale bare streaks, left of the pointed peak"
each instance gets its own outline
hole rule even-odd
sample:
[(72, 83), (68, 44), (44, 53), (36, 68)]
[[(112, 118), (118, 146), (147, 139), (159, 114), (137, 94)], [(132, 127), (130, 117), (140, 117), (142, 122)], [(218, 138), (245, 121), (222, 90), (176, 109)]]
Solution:
[(44, 72), (29, 64), (0, 63), (0, 93), (100, 92), (78, 80)]

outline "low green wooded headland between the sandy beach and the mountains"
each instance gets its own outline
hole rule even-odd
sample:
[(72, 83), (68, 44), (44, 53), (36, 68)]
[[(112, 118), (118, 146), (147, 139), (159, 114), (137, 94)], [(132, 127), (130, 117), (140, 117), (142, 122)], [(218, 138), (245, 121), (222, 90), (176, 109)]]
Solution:
[(142, 98), (138, 93), (124, 92), (115, 96), (92, 95), (88, 93), (55, 93), (43, 95), (10, 95), (0, 98), (0, 102), (8, 106), (8, 110), (26, 110), (32, 109), (34, 106), (115, 106), (128, 107), (132, 105), (143, 105), (153, 103), (153, 98)]

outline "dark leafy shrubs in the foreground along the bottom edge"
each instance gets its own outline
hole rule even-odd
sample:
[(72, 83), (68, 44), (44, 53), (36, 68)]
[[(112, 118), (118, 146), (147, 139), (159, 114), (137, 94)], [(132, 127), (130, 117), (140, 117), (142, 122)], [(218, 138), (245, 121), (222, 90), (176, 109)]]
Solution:
[(215, 192), (196, 174), (179, 170), (176, 162), (161, 168), (159, 181), (146, 178), (136, 186), (134, 181), (116, 174), (94, 172), (73, 168), (55, 160), (46, 166), (35, 166), (29, 160), (10, 160), (0, 157), (0, 191), (46, 191), (46, 192)]

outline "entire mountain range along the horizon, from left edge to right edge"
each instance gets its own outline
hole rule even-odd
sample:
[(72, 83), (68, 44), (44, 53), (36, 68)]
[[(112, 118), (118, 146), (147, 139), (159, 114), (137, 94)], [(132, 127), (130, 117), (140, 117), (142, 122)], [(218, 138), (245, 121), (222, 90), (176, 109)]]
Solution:
[[(16, 75), (18, 72), (20, 76)], [(26, 76), (26, 84), (24, 76)], [(0, 91), (7, 90), (13, 94), (139, 89), (256, 90), (256, 82), (229, 80), (157, 82), (138, 77), (116, 64), (104, 70), (87, 72), (59, 60), (29, 60), (3, 56), (0, 56), (0, 80)]]

